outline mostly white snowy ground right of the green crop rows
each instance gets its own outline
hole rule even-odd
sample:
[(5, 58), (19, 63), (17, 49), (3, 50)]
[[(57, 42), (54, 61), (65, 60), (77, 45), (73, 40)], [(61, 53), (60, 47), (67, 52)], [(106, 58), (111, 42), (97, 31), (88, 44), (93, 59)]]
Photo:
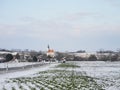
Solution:
[(120, 90), (120, 62), (77, 62), (76, 69), (93, 77), (105, 90)]

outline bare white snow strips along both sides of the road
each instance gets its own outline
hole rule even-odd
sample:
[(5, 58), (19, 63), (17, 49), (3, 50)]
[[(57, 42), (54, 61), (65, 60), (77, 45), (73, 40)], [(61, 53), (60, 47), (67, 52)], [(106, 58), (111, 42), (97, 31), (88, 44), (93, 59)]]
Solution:
[[(0, 82), (4, 81), (5, 79), (9, 79), (9, 78), (30, 76), (32, 74), (35, 74), (35, 73), (39, 72), (39, 71), (48, 70), (48, 69), (50, 69), (50, 67), (53, 67), (56, 64), (58, 64), (58, 63), (55, 63), (55, 62), (51, 63), (51, 64), (49, 64), (49, 62), (44, 62), (44, 63), (46, 63), (46, 64), (43, 65), (43, 66), (40, 66), (40, 67), (33, 67), (33, 68), (29, 68), (27, 70), (20, 70), (20, 71), (15, 71), (15, 72), (5, 72), (3, 74), (0, 74)], [(9, 63), (9, 66), (11, 68), (11, 67), (15, 67), (15, 66), (17, 66), (17, 67), (21, 66), (22, 67), (22, 66), (31, 65), (31, 64), (36, 64), (36, 63), (28, 63), (28, 62), (24, 62), (24, 63), (11, 63), (11, 64)], [(2, 64), (1, 64), (1, 66), (2, 66)]]

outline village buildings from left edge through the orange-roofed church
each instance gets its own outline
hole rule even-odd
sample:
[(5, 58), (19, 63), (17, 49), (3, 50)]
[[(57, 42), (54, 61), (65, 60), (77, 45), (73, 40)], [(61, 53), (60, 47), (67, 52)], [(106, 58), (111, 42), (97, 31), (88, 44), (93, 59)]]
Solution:
[[(23, 62), (23, 61), (34, 61), (33, 57), (37, 58), (37, 61), (41, 61), (43, 59), (46, 59), (47, 57), (49, 58), (54, 58), (55, 57), (55, 51), (51, 49), (48, 46), (48, 50), (45, 52), (36, 52), (36, 51), (29, 51), (29, 50), (0, 50), (0, 62), (4, 62), (6, 59), (6, 55), (11, 54), (13, 56), (13, 59), (11, 61), (18, 61), (18, 62)], [(19, 55), (19, 59), (16, 58), (16, 56)], [(45, 58), (43, 58), (45, 56)], [(18, 60), (17, 60), (18, 59)]]

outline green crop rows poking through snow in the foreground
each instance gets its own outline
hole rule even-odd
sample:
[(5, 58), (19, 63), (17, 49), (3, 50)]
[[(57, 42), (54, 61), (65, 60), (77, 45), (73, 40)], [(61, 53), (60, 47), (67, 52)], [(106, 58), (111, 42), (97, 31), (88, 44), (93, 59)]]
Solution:
[[(76, 65), (61, 64), (57, 67), (73, 67)], [(32, 77), (12, 78), (7, 80), (3, 90), (103, 90), (96, 81), (81, 72), (74, 70), (48, 70), (34, 74)], [(17, 86), (14, 86), (16, 84)]]

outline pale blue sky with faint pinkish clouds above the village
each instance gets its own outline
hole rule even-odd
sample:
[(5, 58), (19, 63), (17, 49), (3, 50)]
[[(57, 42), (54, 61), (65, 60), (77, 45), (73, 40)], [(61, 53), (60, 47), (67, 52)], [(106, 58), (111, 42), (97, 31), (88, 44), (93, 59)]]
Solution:
[(120, 48), (120, 0), (0, 0), (0, 48)]

